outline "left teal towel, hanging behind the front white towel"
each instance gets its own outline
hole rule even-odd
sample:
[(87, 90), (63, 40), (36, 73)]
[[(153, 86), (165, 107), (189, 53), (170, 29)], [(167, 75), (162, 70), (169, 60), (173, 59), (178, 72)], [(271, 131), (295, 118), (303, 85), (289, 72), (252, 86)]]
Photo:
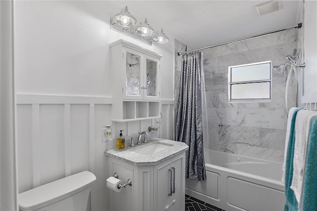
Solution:
[(290, 188), (292, 185), (293, 178), (293, 158), (294, 158), (294, 149), (295, 149), (295, 120), (297, 112), (301, 109), (296, 109), (294, 111), (290, 134), (287, 145), (287, 154), (286, 154), (286, 165), (285, 165), (285, 197), (286, 203), (284, 206), (284, 211), (298, 211), (298, 202), (296, 200), (294, 191)]

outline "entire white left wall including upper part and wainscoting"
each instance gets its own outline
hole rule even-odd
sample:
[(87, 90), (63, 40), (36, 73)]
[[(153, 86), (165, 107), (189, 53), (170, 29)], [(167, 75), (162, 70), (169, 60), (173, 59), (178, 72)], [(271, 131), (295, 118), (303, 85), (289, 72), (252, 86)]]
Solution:
[(110, 17), (123, 6), (118, 1), (14, 1), (19, 193), (90, 170), (97, 176), (92, 210), (107, 210), (101, 128), (111, 124), (108, 44), (118, 39), (163, 55), (159, 126), (161, 137), (173, 137), (174, 38), (166, 32), (169, 44), (149, 46), (110, 30)]

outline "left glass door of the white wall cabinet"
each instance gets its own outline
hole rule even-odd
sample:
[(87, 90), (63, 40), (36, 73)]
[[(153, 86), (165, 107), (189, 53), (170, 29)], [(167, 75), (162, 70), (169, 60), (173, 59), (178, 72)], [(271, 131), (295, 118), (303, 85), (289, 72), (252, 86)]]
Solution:
[(125, 53), (125, 90), (124, 98), (141, 99), (142, 97), (142, 54), (140, 52), (127, 49)]

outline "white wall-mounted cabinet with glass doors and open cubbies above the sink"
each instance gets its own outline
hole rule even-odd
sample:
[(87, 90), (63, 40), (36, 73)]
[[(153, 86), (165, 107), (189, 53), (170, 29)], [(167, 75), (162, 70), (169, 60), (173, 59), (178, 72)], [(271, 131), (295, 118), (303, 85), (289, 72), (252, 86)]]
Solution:
[(151, 119), (160, 113), (161, 55), (119, 40), (111, 48), (111, 120)]

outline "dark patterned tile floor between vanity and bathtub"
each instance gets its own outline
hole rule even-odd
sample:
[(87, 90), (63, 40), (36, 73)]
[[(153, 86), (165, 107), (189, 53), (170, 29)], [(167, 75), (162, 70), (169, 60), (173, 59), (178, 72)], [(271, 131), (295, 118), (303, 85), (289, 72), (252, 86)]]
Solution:
[(206, 202), (196, 199), (192, 196), (185, 195), (185, 211), (225, 211), (214, 207)]

